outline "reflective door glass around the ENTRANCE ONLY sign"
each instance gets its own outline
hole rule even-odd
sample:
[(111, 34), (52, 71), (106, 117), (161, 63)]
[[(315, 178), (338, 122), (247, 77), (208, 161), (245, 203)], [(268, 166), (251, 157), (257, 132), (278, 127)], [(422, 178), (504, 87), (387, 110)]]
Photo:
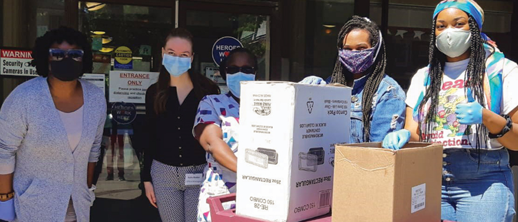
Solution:
[[(91, 37), (93, 72), (106, 75), (106, 92), (108, 74), (117, 70), (114, 52), (119, 47), (132, 51), (133, 67), (125, 70), (159, 70), (171, 19), (172, 10), (167, 7), (79, 2), (79, 29)], [(108, 113), (111, 106), (109, 103)], [(142, 195), (140, 172), (147, 135), (143, 130), (145, 107), (136, 107), (136, 119), (130, 124), (117, 123), (111, 114), (107, 115), (102, 156), (94, 178), (97, 190), (92, 221), (160, 221), (156, 209)]]

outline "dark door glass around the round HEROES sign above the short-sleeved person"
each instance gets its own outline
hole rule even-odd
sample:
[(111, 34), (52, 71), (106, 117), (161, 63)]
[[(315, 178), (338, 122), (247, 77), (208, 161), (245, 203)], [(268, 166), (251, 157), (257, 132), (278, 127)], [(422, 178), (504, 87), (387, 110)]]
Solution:
[(225, 82), (218, 78), (219, 70), (212, 59), (214, 42), (221, 37), (238, 39), (244, 48), (250, 49), (258, 61), (258, 80), (269, 80), (270, 37), (269, 17), (252, 14), (187, 11), (187, 29), (194, 36), (193, 67), (203, 75), (219, 83), (222, 92), (227, 92)]

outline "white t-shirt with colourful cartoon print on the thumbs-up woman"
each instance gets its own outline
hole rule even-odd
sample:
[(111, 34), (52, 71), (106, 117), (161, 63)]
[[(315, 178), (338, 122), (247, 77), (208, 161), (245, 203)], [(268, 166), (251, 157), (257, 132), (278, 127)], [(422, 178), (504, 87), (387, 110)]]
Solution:
[[(477, 137), (474, 135), (475, 125), (468, 128), (467, 125), (459, 124), (455, 115), (458, 103), (466, 103), (464, 88), (464, 78), (466, 68), (469, 63), (467, 60), (445, 63), (444, 75), (442, 77), (442, 87), (439, 93), (438, 117), (435, 122), (435, 130), (431, 137), (431, 142), (442, 143), (444, 148), (464, 148), (471, 149), (476, 147)], [(414, 108), (419, 96), (424, 88), (425, 72), (428, 68), (422, 68), (415, 73), (407, 92), (407, 106)], [(501, 114), (509, 114), (518, 106), (518, 66), (516, 63), (507, 60), (503, 67), (503, 95), (501, 101)], [(417, 120), (415, 120), (417, 121)], [(491, 139), (488, 149), (501, 149), (503, 146), (497, 139)], [(485, 148), (485, 144), (481, 144)]]

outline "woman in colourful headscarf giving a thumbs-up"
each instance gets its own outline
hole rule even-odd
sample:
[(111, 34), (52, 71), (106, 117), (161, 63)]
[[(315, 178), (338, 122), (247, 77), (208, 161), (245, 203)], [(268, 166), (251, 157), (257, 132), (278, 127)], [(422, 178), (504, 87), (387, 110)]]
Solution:
[(405, 129), (383, 146), (441, 143), (442, 219), (510, 222), (506, 149), (518, 150), (518, 66), (481, 33), (484, 11), (473, 0), (442, 1), (433, 19), (429, 65), (410, 83)]

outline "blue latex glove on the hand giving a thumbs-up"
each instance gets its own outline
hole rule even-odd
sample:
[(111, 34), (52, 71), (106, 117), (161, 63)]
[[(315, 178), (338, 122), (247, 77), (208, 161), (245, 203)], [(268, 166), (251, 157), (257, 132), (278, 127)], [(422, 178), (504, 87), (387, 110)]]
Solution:
[(468, 97), (468, 102), (458, 103), (457, 110), (455, 110), (458, 123), (465, 125), (482, 124), (483, 107), (473, 98), (471, 88), (468, 88), (466, 96)]

